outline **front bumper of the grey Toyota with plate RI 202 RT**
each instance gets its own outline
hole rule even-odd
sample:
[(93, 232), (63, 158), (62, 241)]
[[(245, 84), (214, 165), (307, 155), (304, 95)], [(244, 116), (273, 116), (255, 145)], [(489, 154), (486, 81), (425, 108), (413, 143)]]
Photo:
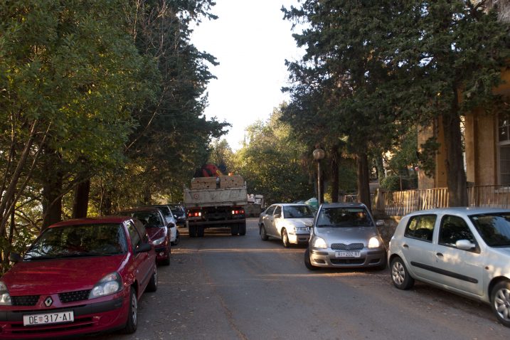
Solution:
[(310, 262), (316, 267), (377, 267), (386, 264), (385, 249), (356, 250), (359, 257), (336, 257), (338, 250), (311, 248)]

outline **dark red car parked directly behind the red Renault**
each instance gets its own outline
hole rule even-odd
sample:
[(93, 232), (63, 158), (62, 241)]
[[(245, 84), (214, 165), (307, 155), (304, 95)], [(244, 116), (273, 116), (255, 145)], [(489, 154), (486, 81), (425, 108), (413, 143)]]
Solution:
[(162, 265), (170, 265), (170, 230), (163, 214), (155, 207), (139, 207), (117, 212), (119, 216), (130, 216), (138, 220), (149, 233), (150, 242), (156, 250), (156, 259)]

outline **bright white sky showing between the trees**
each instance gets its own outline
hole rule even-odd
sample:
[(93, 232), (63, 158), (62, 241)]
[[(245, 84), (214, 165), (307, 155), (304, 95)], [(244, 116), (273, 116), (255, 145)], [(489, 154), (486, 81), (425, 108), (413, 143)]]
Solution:
[(265, 121), (274, 107), (288, 101), (280, 90), (287, 85), (285, 59), (302, 52), (292, 38), (292, 23), (283, 20), (282, 6), (297, 0), (216, 0), (213, 21), (196, 27), (191, 42), (214, 55), (220, 65), (210, 67), (217, 80), (208, 85), (206, 117), (232, 124), (225, 137), (233, 150), (242, 146), (245, 129)]

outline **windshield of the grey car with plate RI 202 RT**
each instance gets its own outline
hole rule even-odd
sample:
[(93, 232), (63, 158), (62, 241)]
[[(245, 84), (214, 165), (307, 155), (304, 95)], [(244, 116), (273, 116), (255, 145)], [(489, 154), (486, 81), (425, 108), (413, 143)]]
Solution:
[(317, 227), (371, 226), (370, 216), (364, 208), (322, 208), (317, 217)]

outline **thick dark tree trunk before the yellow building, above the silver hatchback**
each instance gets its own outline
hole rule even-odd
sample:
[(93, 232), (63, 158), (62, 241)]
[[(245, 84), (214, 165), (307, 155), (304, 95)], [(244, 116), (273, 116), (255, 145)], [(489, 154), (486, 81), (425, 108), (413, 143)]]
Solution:
[[(457, 101), (457, 98), (455, 98)], [(462, 157), (462, 132), (457, 105), (450, 115), (443, 115), (442, 127), (445, 132), (446, 176), (449, 206), (467, 206), (467, 181)]]

